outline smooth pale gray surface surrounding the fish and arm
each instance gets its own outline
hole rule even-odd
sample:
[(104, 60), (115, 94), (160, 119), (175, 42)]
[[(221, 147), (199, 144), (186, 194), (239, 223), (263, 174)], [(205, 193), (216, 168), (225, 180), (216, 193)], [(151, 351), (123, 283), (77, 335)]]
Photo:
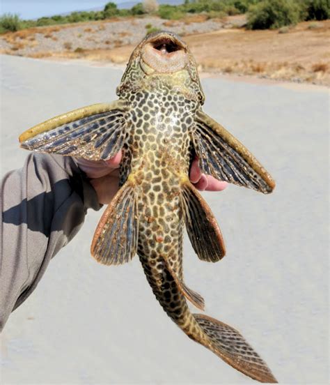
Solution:
[[(1, 174), (20, 167), (19, 133), (115, 98), (120, 70), (1, 57)], [(190, 287), (206, 313), (239, 329), (281, 383), (328, 383), (327, 129), (324, 89), (203, 79), (205, 111), (269, 169), (274, 194), (205, 193), (227, 256), (198, 260), (184, 243)], [(187, 338), (153, 296), (139, 259), (89, 255), (100, 212), (49, 265), (2, 334), (2, 384), (251, 384)]]

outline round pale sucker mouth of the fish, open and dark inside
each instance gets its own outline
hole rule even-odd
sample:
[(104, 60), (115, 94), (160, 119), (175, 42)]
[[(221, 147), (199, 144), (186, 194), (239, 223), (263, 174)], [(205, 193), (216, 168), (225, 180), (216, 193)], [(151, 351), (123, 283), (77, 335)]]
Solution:
[(174, 73), (188, 63), (187, 45), (174, 33), (152, 33), (146, 37), (141, 59), (157, 73)]

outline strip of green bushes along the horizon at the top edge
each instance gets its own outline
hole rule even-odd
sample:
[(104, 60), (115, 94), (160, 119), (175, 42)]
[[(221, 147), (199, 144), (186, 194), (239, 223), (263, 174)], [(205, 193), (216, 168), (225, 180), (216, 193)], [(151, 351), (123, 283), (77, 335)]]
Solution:
[(38, 20), (20, 20), (17, 15), (0, 17), (0, 33), (30, 27), (49, 26), (106, 20), (111, 17), (159, 15), (163, 19), (178, 20), (187, 15), (203, 13), (207, 18), (248, 13), (250, 29), (275, 29), (302, 20), (326, 20), (330, 18), (329, 0), (184, 0), (179, 6), (158, 5), (157, 0), (143, 0), (131, 9), (118, 9), (109, 2), (103, 10), (72, 12), (70, 15), (40, 17)]

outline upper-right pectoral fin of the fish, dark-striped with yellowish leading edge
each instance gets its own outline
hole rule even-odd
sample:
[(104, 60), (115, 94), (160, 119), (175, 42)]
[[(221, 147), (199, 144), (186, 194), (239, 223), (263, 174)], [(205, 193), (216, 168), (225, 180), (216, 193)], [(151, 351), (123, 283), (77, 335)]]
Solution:
[(272, 193), (272, 176), (242, 143), (201, 110), (196, 112), (193, 142), (205, 174), (264, 194)]

